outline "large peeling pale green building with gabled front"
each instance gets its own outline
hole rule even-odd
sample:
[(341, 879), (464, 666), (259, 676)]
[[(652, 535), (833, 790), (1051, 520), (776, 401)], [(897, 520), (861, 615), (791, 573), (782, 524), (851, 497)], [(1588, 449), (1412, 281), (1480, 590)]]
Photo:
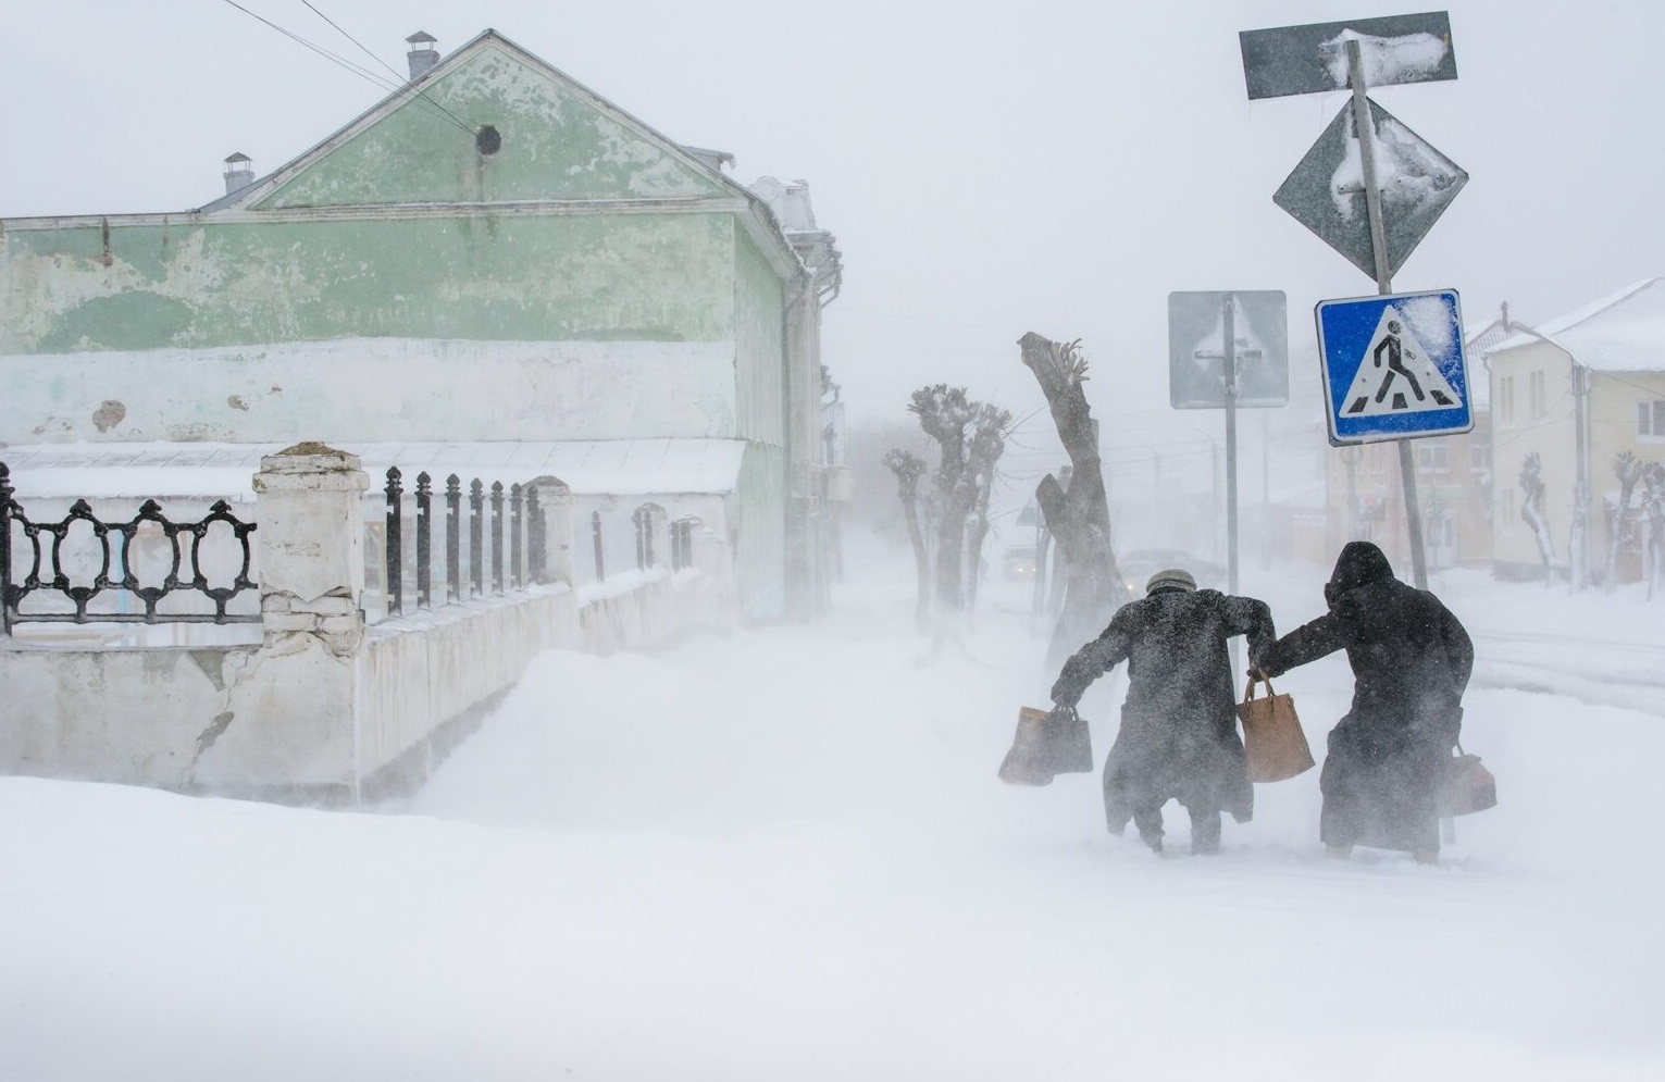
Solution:
[(441, 471), (528, 444), (674, 518), (673, 463), (714, 489), (688, 496), (743, 613), (809, 611), (841, 266), (808, 188), (739, 185), (493, 30), (410, 40), (410, 83), (270, 175), (231, 155), (198, 210), (0, 220), (0, 444), (421, 444)]

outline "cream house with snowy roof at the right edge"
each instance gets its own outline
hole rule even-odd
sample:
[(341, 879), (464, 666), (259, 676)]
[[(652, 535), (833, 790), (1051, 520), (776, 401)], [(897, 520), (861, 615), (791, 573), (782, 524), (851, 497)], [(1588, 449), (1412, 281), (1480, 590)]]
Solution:
[[(1542, 481), (1532, 509), (1543, 523), (1553, 574), (1582, 581), (1605, 576), (1613, 541), (1620, 454), (1665, 461), (1665, 288), (1645, 278), (1558, 320), (1498, 343), (1487, 353), (1492, 370), (1497, 516), (1494, 546), (1498, 574), (1540, 576), (1545, 549), (1528, 521), (1528, 488)], [(1640, 491), (1625, 508), (1638, 514)], [(1583, 556), (1573, 539), (1582, 529)], [(1635, 536), (1632, 531), (1630, 538)], [(1623, 541), (1623, 536), (1620, 538)], [(1640, 559), (1625, 544), (1618, 581), (1640, 576)]]

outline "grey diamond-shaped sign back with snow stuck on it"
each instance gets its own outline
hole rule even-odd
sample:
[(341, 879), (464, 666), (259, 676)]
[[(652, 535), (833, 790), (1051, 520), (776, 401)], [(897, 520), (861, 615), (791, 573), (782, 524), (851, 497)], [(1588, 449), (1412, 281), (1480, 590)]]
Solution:
[[(1375, 251), (1352, 117), (1354, 107), (1349, 102), (1272, 201), (1374, 280)], [(1375, 102), (1370, 102), (1370, 117), (1375, 125), (1382, 225), (1387, 231), (1387, 270), (1394, 275), (1469, 183), (1469, 173)]]

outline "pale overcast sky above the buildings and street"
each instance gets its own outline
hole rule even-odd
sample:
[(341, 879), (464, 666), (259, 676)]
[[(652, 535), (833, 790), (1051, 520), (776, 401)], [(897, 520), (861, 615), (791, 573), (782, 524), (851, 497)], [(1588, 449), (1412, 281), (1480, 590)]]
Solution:
[[(301, 0), (243, 7), (371, 63)], [(1084, 340), (1094, 408), (1134, 443), (1220, 426), (1212, 411), (1169, 411), (1169, 291), (1284, 290), (1297, 393), (1317, 386), (1312, 305), (1375, 291), (1272, 203), (1345, 95), (1250, 103), (1237, 32), (1434, 8), (313, 7), (400, 72), (411, 32), (450, 52), (495, 27), (668, 136), (731, 151), (743, 181), (808, 180), (844, 253), (826, 361), (852, 413), (901, 414), (911, 388), (947, 381), (1031, 414), (1044, 403), (1016, 340), (1034, 330)], [(1457, 288), (1479, 328), (1505, 300), (1540, 323), (1662, 273), (1665, 5), (1445, 10), (1459, 80), (1372, 95), (1470, 173), (1395, 286)], [(223, 191), (228, 153), (270, 171), (386, 93), (225, 0), (0, 0), (0, 218), (198, 206)], [(1277, 418), (1304, 419), (1317, 418)], [(1044, 414), (1031, 424), (1049, 428)]]

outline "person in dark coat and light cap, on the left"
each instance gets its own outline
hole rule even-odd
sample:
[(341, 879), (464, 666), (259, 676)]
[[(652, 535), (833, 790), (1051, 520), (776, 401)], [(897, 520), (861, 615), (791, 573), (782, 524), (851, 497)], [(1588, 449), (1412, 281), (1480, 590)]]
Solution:
[(1122, 726), (1104, 761), (1104, 817), (1112, 834), (1132, 819), (1162, 851), (1162, 806), (1190, 812), (1192, 852), (1220, 851), (1220, 812), (1254, 814), (1254, 789), (1237, 737), (1237, 697), (1227, 639), (1249, 636), (1249, 658), (1277, 638), (1264, 601), (1197, 589), (1185, 571), (1157, 571), (1146, 596), (1064, 663), (1052, 701), (1074, 707), (1087, 686), (1127, 663)]

